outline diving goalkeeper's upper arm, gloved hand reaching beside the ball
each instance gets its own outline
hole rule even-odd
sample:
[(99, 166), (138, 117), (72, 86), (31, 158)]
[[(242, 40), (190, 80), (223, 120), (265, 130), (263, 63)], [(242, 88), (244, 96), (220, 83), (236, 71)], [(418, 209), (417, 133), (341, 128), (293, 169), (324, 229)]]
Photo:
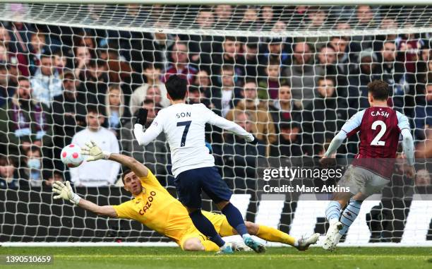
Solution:
[(88, 155), (87, 162), (96, 160), (112, 160), (131, 169), (137, 177), (147, 177), (148, 168), (142, 163), (126, 155), (119, 153), (109, 153), (101, 150), (95, 142), (85, 143), (85, 147), (81, 149), (81, 154)]

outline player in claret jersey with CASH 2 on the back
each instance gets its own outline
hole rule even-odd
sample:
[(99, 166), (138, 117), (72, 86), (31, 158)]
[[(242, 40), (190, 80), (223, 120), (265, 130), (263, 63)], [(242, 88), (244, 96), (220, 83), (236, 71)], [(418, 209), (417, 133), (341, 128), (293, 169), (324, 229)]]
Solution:
[[(360, 132), (359, 154), (340, 181), (340, 186), (349, 187), (349, 192), (333, 193), (325, 212), (330, 227), (323, 242), (324, 249), (335, 249), (342, 235), (359, 215), (362, 201), (381, 191), (390, 182), (400, 134), (409, 164), (406, 173), (408, 177), (414, 178), (414, 142), (409, 121), (407, 116), (388, 107), (388, 96), (389, 87), (383, 80), (369, 83), (368, 100), (371, 107), (357, 112), (342, 126), (321, 160), (321, 163), (327, 162), (345, 138)], [(345, 205), (347, 208), (341, 217), (341, 208)]]

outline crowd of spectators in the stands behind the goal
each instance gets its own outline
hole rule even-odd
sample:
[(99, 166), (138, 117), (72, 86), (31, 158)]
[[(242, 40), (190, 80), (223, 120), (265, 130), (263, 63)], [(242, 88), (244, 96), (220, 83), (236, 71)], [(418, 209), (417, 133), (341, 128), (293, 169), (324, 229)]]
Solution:
[[(197, 27), (227, 23), (231, 8), (202, 8)], [(293, 12), (305, 12), (302, 23), (312, 25), (324, 24), (329, 15), (306, 11), (299, 6)], [(379, 10), (371, 6), (349, 12), (366, 28), (372, 21), (383, 28), (395, 23), (377, 22)], [(276, 15), (283, 17), (272, 6), (250, 6), (240, 23), (259, 30)], [(272, 28), (287, 26), (277, 20)], [(246, 188), (244, 179), (256, 177), (258, 157), (322, 156), (344, 122), (369, 106), (366, 87), (375, 79), (389, 84), (389, 105), (412, 121), (416, 157), (432, 157), (431, 37), (171, 35), (2, 22), (0, 188), (49, 186), (54, 180), (116, 184), (121, 167), (115, 162), (74, 169), (60, 162), (65, 145), (90, 139), (103, 150), (135, 157), (170, 184), (164, 136), (143, 148), (131, 130), (140, 107), (149, 111), (149, 126), (169, 106), (164, 81), (173, 73), (188, 80), (189, 103), (205, 104), (256, 137), (246, 143), (208, 126), (208, 147), (232, 187)], [(357, 142), (352, 138), (339, 154), (353, 157)], [(427, 174), (419, 182), (430, 184)]]

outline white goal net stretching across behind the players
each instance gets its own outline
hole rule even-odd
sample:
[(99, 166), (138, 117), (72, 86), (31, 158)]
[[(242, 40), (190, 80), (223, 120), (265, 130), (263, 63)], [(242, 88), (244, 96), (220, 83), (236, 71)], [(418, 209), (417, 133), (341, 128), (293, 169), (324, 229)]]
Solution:
[[(206, 127), (233, 203), (246, 220), (297, 237), (325, 234), (327, 202), (305, 193), (263, 198), (256, 167), (322, 156), (368, 107), (367, 84), (385, 80), (389, 105), (412, 127), (416, 179), (397, 175), (365, 201), (342, 241), (431, 244), (430, 6), (1, 3), (0, 14), (0, 244), (168, 242), (139, 222), (54, 201), (51, 185), (71, 181), (99, 205), (131, 199), (121, 188), (125, 167), (60, 161), (65, 145), (92, 138), (143, 162), (176, 197), (166, 139), (143, 148), (132, 133), (140, 107), (149, 109), (149, 126), (169, 105), (164, 81), (172, 73), (188, 80), (189, 103), (236, 121), (258, 141)], [(350, 138), (337, 158), (354, 157), (358, 142)], [(205, 210), (217, 210), (203, 198)]]

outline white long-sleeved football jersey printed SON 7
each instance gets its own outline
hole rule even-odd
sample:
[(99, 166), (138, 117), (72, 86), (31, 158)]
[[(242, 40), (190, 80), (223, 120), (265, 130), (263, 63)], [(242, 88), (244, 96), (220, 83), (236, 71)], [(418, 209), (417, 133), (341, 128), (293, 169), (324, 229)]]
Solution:
[(172, 104), (160, 110), (152, 125), (142, 137), (137, 137), (140, 145), (147, 145), (162, 131), (167, 136), (171, 150), (172, 174), (200, 167), (212, 167), (215, 158), (205, 146), (205, 124), (213, 124), (233, 131), (253, 141), (253, 136), (232, 121), (217, 116), (204, 104)]

